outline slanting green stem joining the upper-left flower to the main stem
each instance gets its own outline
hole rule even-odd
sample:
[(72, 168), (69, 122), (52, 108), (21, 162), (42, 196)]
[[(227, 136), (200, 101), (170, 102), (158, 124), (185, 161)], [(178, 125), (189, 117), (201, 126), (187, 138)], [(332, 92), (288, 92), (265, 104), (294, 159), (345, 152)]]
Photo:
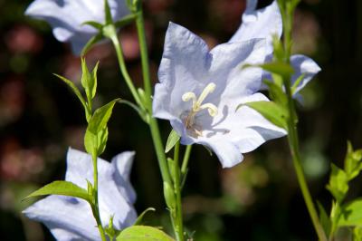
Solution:
[(108, 26), (108, 37), (112, 41), (113, 46), (116, 50), (117, 58), (119, 60), (119, 69), (129, 87), (129, 91), (131, 92), (131, 94), (132, 94), (133, 98), (135, 99), (135, 101), (137, 102), (138, 106), (143, 108), (143, 103), (142, 103), (142, 101), (140, 101), (138, 92), (135, 88), (135, 85), (133, 84), (133, 82), (129, 76), (129, 72), (127, 71), (126, 63), (123, 58), (122, 48), (119, 43), (119, 38), (118, 38), (118, 35), (116, 32), (116, 28), (113, 25)]

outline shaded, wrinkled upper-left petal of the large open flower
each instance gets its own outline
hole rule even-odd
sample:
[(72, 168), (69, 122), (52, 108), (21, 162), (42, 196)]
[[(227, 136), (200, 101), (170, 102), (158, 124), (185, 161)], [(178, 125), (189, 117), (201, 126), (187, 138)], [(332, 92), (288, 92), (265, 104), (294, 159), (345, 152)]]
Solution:
[(205, 41), (186, 28), (170, 23), (158, 69), (160, 83), (156, 85), (153, 101), (154, 116), (179, 116), (189, 105), (181, 101), (182, 95), (195, 91), (203, 84), (210, 63), (211, 56)]

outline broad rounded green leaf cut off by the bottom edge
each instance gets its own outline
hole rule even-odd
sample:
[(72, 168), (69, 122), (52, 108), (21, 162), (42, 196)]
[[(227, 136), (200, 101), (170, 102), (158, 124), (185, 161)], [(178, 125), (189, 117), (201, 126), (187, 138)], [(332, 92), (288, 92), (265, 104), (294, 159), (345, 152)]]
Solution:
[(132, 226), (120, 232), (117, 241), (175, 241), (175, 239), (155, 227)]

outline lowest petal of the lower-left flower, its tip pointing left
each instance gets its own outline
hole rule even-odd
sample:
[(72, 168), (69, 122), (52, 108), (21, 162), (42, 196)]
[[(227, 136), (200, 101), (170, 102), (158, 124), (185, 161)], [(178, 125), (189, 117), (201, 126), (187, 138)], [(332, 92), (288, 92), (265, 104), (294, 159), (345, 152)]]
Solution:
[(43, 222), (57, 240), (100, 240), (90, 205), (80, 198), (52, 195), (34, 203), (23, 213), (26, 217)]

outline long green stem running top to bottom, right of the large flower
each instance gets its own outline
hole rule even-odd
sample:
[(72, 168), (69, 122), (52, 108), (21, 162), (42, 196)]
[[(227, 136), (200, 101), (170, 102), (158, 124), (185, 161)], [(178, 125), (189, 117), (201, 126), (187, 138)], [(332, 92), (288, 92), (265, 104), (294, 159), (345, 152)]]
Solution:
[[(291, 58), (291, 26), (292, 26), (292, 17), (293, 9), (287, 9), (281, 7), (282, 10), (282, 20), (283, 20), (283, 31), (284, 31), (284, 62), (290, 63)], [(285, 12), (284, 12), (285, 11)], [(289, 119), (288, 119), (288, 142), (291, 149), (291, 157), (293, 159), (293, 165), (295, 172), (297, 174), (298, 182), (300, 185), (301, 193), (303, 195), (305, 204), (310, 213), (310, 218), (312, 220), (314, 229), (317, 232), (320, 241), (327, 241), (326, 234), (324, 233), (323, 228), (320, 225), (319, 217), (316, 208), (314, 207), (313, 200), (310, 196), (310, 189), (308, 188), (306, 178), (300, 162), (300, 147), (299, 147), (299, 138), (297, 130), (297, 120), (298, 117), (295, 114), (295, 106), (291, 93), (291, 81), (289, 77), (284, 77), (283, 82), (285, 85), (285, 90), (288, 98), (288, 110), (289, 110)]]

